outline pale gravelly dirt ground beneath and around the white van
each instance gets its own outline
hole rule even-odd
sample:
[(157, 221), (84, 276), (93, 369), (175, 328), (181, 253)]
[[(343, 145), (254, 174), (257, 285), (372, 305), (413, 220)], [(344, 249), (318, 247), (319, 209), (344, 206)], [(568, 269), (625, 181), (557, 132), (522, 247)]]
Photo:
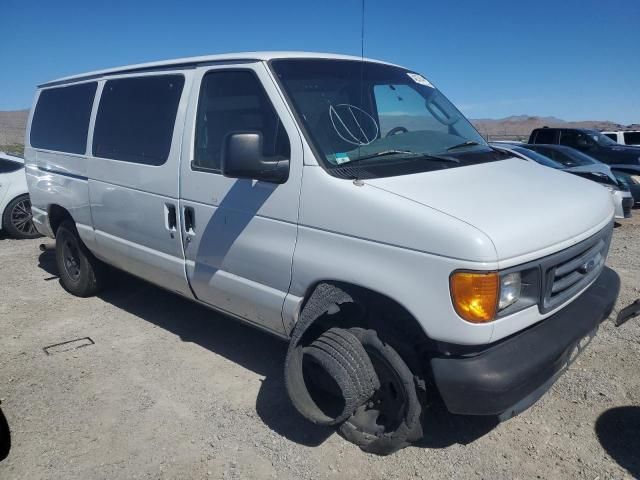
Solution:
[[(605, 322), (519, 417), (436, 408), (419, 446), (376, 457), (297, 415), (280, 340), (125, 274), (99, 297), (72, 297), (41, 242), (0, 240), (12, 435), (0, 479), (640, 476), (639, 319)], [(616, 228), (608, 263), (622, 278), (615, 314), (640, 297), (640, 210)], [(44, 350), (84, 337), (94, 343)]]

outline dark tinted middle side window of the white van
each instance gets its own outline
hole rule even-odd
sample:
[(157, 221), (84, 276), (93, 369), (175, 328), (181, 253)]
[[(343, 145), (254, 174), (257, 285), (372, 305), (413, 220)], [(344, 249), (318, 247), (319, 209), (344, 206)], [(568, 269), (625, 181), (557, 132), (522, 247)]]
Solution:
[(183, 87), (182, 75), (107, 81), (96, 117), (93, 155), (145, 165), (166, 162)]

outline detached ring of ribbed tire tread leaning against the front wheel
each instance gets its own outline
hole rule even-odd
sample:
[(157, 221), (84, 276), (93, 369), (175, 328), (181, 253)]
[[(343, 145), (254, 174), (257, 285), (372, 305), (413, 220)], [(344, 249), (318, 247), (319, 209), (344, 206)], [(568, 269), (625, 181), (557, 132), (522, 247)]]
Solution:
[(371, 360), (348, 330), (331, 328), (299, 346), (285, 365), (293, 405), (317, 425), (337, 425), (378, 388)]

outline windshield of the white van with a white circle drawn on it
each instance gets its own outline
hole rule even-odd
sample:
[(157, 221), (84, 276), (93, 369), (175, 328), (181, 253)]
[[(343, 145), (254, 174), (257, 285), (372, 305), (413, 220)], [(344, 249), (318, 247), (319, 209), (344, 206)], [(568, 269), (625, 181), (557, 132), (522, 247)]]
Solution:
[(355, 60), (271, 66), (329, 169), (421, 162), (431, 170), (504, 158), (417, 73)]

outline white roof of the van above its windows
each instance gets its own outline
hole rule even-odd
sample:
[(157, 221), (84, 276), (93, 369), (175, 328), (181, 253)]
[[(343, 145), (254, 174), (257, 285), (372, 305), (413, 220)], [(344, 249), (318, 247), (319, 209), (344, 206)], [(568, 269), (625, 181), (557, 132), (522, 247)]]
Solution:
[[(168, 68), (193, 67), (199, 64), (221, 63), (221, 62), (249, 62), (249, 61), (268, 61), (276, 58), (324, 58), (335, 60), (362, 60), (362, 57), (353, 55), (338, 55), (334, 53), (320, 52), (240, 52), (240, 53), (223, 53), (219, 55), (203, 55), (199, 57), (184, 57), (173, 60), (160, 60), (157, 62), (138, 63), (134, 65), (126, 65), (122, 67), (107, 68), (104, 70), (96, 70), (93, 72), (82, 73), (79, 75), (71, 75), (68, 77), (58, 78), (50, 82), (38, 85), (38, 88), (51, 87), (65, 83), (72, 83), (81, 80), (90, 80), (107, 75), (115, 75), (120, 73), (144, 72), (149, 70), (166, 70)], [(393, 65), (379, 60), (364, 58), (367, 62), (384, 63)]]

